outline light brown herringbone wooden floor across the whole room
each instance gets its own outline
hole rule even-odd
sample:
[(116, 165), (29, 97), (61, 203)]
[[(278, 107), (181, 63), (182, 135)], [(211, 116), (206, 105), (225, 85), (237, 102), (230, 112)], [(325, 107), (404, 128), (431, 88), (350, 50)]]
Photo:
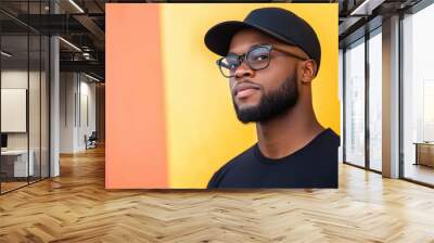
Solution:
[(104, 151), (0, 196), (0, 242), (434, 242), (434, 190), (342, 165), (339, 190), (105, 190)]

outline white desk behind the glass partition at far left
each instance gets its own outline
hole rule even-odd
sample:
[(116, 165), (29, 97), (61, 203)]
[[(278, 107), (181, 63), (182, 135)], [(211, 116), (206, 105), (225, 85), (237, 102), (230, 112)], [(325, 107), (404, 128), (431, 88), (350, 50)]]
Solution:
[[(27, 150), (7, 150), (1, 151), (1, 169), (7, 172), (10, 177), (27, 177), (35, 174), (34, 157), (35, 152), (29, 150), (28, 154), (30, 159), (28, 161), (27, 167)], [(3, 168), (11, 168), (7, 171)], [(13, 167), (13, 170), (12, 170)], [(12, 174), (13, 171), (13, 174)], [(29, 172), (29, 175), (27, 175)]]

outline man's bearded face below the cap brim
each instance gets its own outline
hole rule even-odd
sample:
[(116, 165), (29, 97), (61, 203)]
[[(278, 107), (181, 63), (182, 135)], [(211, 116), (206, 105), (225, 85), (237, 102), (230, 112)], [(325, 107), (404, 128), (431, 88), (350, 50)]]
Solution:
[[(270, 43), (283, 47), (301, 56), (298, 48), (282, 44), (253, 29), (239, 31), (231, 41), (229, 53), (243, 54), (255, 44)], [(238, 118), (242, 123), (267, 122), (282, 115), (298, 100), (297, 59), (271, 51), (270, 64), (254, 71), (244, 61), (230, 78), (230, 89)]]

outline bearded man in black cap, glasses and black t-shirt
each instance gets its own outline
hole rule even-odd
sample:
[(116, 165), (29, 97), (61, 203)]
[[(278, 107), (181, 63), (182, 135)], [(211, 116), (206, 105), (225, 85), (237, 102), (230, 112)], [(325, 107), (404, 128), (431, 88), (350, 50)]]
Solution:
[(318, 123), (311, 101), (321, 57), (311, 26), (283, 9), (257, 9), (210, 28), (205, 44), (222, 56), (237, 116), (256, 123), (258, 138), (208, 188), (337, 188), (340, 138)]

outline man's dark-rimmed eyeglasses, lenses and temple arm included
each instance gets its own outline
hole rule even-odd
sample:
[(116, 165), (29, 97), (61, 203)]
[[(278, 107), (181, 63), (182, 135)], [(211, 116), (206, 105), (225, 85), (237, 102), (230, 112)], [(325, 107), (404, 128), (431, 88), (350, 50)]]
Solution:
[(243, 63), (243, 61), (246, 61), (248, 67), (254, 71), (267, 68), (270, 65), (270, 53), (272, 50), (280, 51), (289, 56), (302, 61), (308, 60), (276, 46), (256, 44), (242, 55), (230, 53), (227, 56), (217, 60), (216, 63), (225, 77), (232, 78), (235, 76), (235, 71)]

